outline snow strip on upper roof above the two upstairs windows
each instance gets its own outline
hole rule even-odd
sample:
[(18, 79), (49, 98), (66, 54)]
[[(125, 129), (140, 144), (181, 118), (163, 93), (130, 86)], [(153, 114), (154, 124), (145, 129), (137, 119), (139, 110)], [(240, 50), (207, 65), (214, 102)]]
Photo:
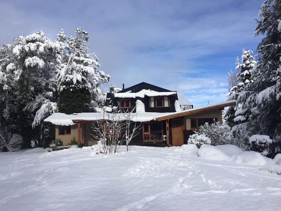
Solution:
[(139, 92), (136, 93), (131, 93), (125, 92), (125, 93), (114, 93), (114, 97), (119, 97), (119, 98), (136, 98), (136, 97), (141, 97), (144, 98), (144, 96), (149, 96), (149, 97), (155, 97), (155, 96), (169, 96), (169, 95), (174, 95), (177, 94), (177, 92), (157, 92), (153, 91), (150, 89), (143, 89)]

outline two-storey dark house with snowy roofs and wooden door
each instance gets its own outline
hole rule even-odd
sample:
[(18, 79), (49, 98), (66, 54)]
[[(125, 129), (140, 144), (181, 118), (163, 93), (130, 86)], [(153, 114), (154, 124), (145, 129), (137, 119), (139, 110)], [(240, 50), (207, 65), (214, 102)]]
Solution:
[[(141, 127), (138, 135), (131, 140), (131, 145), (179, 146), (187, 143), (193, 130), (205, 122), (222, 122), (221, 110), (234, 102), (193, 108), (192, 105), (179, 104), (177, 91), (142, 82), (107, 93), (105, 110), (110, 113), (112, 109), (121, 109), (122, 112), (133, 109), (136, 113), (132, 121)], [(91, 146), (97, 143), (92, 139), (91, 125), (102, 118), (101, 113), (54, 113), (44, 122), (56, 125), (56, 139), (61, 139), (64, 146), (72, 137), (76, 137), (78, 144)]]

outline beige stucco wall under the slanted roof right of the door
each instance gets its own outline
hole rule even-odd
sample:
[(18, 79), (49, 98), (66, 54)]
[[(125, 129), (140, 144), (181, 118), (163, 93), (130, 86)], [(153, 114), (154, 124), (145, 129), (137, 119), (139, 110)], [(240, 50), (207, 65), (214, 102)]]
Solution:
[(197, 114), (191, 114), (184, 117), (185, 130), (191, 130), (190, 119), (193, 118), (217, 118), (222, 123), (222, 111), (220, 109), (205, 111)]

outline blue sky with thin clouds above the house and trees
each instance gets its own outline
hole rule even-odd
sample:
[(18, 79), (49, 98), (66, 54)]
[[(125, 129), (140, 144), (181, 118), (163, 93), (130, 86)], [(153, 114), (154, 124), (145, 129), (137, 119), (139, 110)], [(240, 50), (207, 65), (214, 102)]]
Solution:
[(145, 81), (178, 91), (181, 104), (225, 101), (227, 72), (242, 49), (255, 52), (263, 0), (0, 1), (0, 44), (43, 30), (89, 32), (110, 84)]

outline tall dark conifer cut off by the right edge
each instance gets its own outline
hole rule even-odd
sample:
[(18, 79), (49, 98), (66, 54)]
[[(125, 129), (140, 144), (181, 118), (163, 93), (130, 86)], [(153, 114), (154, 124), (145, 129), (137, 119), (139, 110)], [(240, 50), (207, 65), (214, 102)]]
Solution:
[(281, 141), (281, 0), (267, 0), (259, 11), (255, 36), (264, 36), (258, 45), (258, 62), (251, 72), (254, 81), (244, 88), (249, 94), (245, 105), (251, 110), (255, 134), (273, 139), (271, 156)]

